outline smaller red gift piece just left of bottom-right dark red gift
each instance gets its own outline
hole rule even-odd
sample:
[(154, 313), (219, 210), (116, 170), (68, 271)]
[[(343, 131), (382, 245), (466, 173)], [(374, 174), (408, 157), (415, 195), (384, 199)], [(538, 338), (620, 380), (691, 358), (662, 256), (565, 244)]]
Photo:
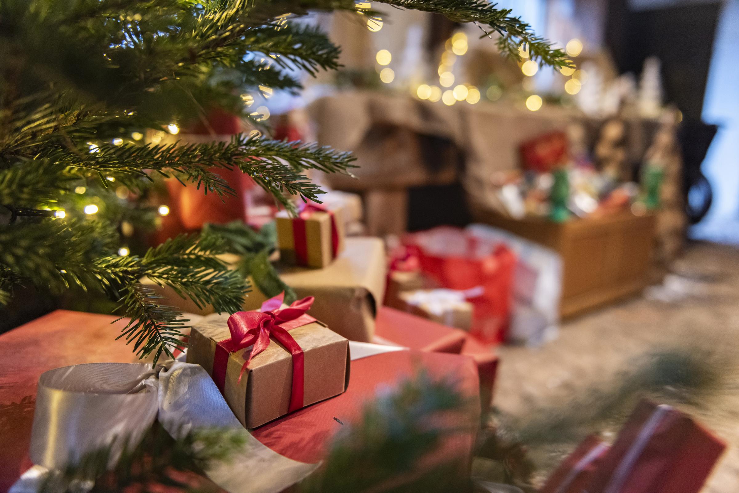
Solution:
[(589, 435), (552, 472), (539, 493), (582, 493), (608, 448), (604, 441)]

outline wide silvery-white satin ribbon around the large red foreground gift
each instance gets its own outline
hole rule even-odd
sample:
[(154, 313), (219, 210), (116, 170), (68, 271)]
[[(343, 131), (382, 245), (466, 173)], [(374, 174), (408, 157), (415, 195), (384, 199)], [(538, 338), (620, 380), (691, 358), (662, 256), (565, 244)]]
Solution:
[[(403, 348), (350, 341), (351, 359)], [(55, 470), (128, 437), (136, 444), (158, 418), (170, 435), (218, 428), (243, 434), (244, 446), (205, 474), (231, 493), (277, 493), (319, 464), (293, 461), (253, 438), (200, 365), (90, 363), (56, 368), (38, 381), (30, 458), (36, 464), (10, 488), (35, 493)], [(115, 461), (123, 448), (116, 442)]]

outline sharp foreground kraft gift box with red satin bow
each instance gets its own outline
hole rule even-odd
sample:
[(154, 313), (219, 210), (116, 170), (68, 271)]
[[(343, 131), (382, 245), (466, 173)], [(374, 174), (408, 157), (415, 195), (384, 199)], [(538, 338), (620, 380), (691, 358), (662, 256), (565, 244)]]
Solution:
[(187, 362), (216, 382), (236, 418), (254, 428), (349, 384), (349, 341), (306, 312), (313, 297), (261, 310), (209, 315), (192, 328)]

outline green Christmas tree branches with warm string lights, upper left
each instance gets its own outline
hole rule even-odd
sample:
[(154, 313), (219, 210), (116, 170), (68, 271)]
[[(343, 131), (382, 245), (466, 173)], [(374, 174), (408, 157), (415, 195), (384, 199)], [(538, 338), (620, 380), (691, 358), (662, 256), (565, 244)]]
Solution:
[[(501, 52), (570, 62), (528, 24), (481, 0), (385, 0), (474, 22)], [(234, 190), (239, 169), (282, 206), (318, 200), (307, 170), (349, 173), (350, 154), (238, 135), (231, 142), (143, 144), (146, 131), (207, 124), (211, 108), (253, 117), (240, 94), (301, 89), (299, 71), (338, 67), (339, 48), (302, 22), (312, 10), (378, 17), (352, 0), (3, 0), (0, 3), (0, 302), (13, 287), (104, 292), (130, 323), (120, 337), (140, 357), (180, 342), (186, 320), (140, 283), (149, 277), (200, 305), (238, 311), (248, 286), (215, 255), (212, 235), (173, 238), (145, 255), (121, 249), (126, 224), (151, 220), (154, 177), (203, 193)], [(253, 122), (259, 125), (259, 122)], [(131, 198), (137, 200), (131, 200)]]

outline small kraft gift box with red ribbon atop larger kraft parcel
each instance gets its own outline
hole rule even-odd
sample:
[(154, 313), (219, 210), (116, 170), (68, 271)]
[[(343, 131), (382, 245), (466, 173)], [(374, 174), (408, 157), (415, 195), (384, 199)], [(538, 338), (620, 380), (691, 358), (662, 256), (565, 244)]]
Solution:
[(277, 213), (280, 259), (316, 269), (328, 266), (344, 249), (344, 222), (338, 215), (341, 210), (311, 202), (301, 204), (294, 218), (287, 211)]

